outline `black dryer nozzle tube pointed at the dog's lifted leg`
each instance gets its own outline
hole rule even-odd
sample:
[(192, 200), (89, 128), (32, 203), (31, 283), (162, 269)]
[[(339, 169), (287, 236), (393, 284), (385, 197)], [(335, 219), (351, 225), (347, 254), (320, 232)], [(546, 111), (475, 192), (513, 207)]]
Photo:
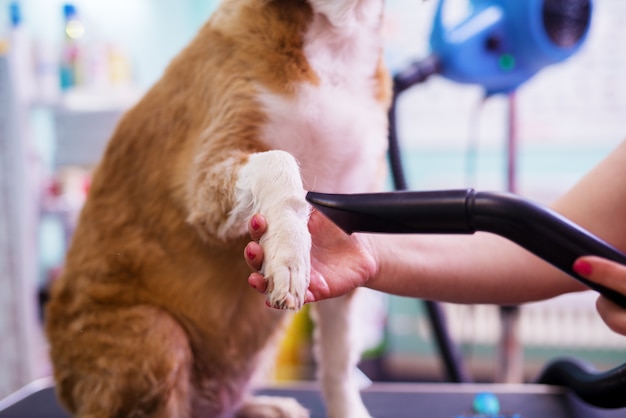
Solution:
[(626, 308), (626, 296), (573, 271), (597, 255), (626, 265), (626, 255), (550, 209), (507, 193), (444, 190), (369, 194), (309, 192), (307, 200), (347, 233), (473, 234), (513, 241)]

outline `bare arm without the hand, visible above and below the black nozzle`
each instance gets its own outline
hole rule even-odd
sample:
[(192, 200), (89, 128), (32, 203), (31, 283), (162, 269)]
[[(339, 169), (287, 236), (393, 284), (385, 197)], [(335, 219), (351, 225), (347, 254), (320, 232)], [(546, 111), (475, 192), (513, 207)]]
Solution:
[[(626, 251), (626, 141), (552, 208)], [(520, 303), (583, 290), (517, 244), (488, 233), (369, 236), (378, 290), (463, 303)]]

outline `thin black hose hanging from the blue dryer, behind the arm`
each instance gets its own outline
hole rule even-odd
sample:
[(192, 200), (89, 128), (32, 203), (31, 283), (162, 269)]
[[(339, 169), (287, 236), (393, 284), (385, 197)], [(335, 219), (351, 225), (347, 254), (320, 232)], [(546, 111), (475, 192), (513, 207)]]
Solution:
[[(398, 131), (396, 125), (396, 108), (398, 96), (415, 84), (425, 81), (428, 77), (438, 73), (440, 70), (439, 60), (428, 57), (409, 66), (406, 70), (398, 73), (393, 80), (393, 97), (389, 108), (389, 164), (394, 187), (396, 190), (407, 190), (407, 181), (402, 165), (400, 145), (398, 141)], [(441, 305), (425, 300), (423, 301), (426, 314), (435, 337), (435, 342), (441, 359), (444, 363), (448, 381), (453, 383), (467, 383), (471, 381), (464, 364), (459, 355), (459, 351), (448, 332), (445, 315)]]

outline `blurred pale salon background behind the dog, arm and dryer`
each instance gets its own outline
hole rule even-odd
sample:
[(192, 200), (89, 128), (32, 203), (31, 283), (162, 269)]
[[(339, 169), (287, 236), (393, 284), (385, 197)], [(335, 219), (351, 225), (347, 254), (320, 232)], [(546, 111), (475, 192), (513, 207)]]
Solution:
[[(217, 5), (212, 0), (0, 0), (0, 398), (50, 374), (42, 334), (47, 288), (120, 115), (159, 78)], [(465, 0), (452, 0), (459, 15)], [(428, 55), (436, 2), (387, 0), (385, 60), (397, 72)], [(626, 3), (594, 3), (589, 38), (515, 95), (516, 191), (549, 204), (626, 136)], [(507, 187), (510, 101), (434, 76), (401, 97), (399, 137), (411, 189)], [(363, 369), (376, 380), (445, 379), (419, 301), (369, 295)], [(532, 380), (549, 359), (621, 364), (626, 339), (591, 293), (521, 308), (516, 325)], [(498, 380), (497, 307), (444, 305), (476, 380)], [(299, 315), (277, 379), (312, 376), (311, 324)]]

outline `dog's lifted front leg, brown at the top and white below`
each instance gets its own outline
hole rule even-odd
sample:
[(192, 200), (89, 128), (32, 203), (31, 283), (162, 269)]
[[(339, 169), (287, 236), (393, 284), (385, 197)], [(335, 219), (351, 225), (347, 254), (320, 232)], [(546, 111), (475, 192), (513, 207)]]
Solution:
[(247, 222), (260, 213), (271, 225), (261, 238), (262, 273), (267, 301), (297, 310), (309, 286), (310, 207), (295, 158), (284, 151), (232, 156), (214, 164), (193, 187), (189, 221), (227, 241), (246, 233)]

